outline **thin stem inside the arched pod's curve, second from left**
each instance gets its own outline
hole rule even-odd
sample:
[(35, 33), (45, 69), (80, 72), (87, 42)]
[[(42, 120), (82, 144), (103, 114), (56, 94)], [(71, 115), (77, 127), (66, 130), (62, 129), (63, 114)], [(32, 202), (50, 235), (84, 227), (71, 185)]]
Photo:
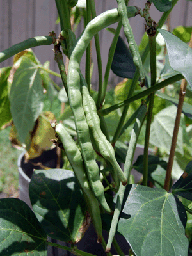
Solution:
[[(96, 17), (96, 10), (95, 10), (95, 1), (90, 0), (90, 7), (92, 12), (92, 19)], [(97, 33), (95, 35), (95, 48), (96, 48), (96, 54), (97, 54), (97, 68), (98, 68), (98, 76), (99, 76), (99, 82), (98, 87), (102, 88), (102, 60), (101, 60), (101, 54), (100, 54), (100, 44), (99, 44), (99, 34)], [(99, 93), (98, 93), (99, 97)], [(97, 105), (97, 104), (96, 104)]]

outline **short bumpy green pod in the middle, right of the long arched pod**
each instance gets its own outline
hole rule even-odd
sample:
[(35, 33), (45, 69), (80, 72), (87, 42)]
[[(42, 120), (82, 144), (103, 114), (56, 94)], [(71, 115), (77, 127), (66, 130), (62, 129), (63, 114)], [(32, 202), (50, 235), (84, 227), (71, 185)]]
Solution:
[(82, 88), (83, 92), (83, 109), (86, 116), (86, 122), (90, 130), (92, 131), (93, 138), (95, 139), (95, 143), (99, 148), (99, 152), (107, 159), (111, 165), (113, 166), (115, 172), (118, 174), (118, 177), (122, 184), (125, 186), (127, 184), (127, 179), (125, 178), (124, 172), (118, 165), (115, 158), (115, 151), (111, 143), (106, 139), (106, 136), (102, 133), (100, 129), (100, 120), (97, 115), (97, 107), (95, 105), (95, 101), (90, 96), (88, 89), (86, 86)]

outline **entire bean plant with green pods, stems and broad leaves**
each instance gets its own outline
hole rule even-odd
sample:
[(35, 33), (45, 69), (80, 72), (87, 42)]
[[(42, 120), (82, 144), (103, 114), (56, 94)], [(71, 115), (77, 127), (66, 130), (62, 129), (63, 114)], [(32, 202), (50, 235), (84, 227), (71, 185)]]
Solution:
[[(15, 55), (13, 67), (1, 68), (1, 127), (13, 120), (12, 135), (17, 134), (29, 159), (36, 143), (32, 135), (39, 129), (46, 137), (42, 149), (56, 145), (65, 160), (63, 168), (33, 171), (29, 184), (33, 211), (18, 198), (0, 200), (0, 255), (47, 255), (47, 246), (73, 255), (93, 255), (78, 249), (91, 221), (106, 255), (112, 255), (112, 244), (121, 256), (188, 255), (192, 50), (186, 43), (191, 28), (181, 27), (184, 33), (180, 28), (172, 33), (162, 29), (177, 0), (149, 0), (143, 10), (128, 2), (117, 0), (115, 9), (96, 15), (94, 0), (86, 0), (86, 8), (78, 7), (77, 0), (56, 0), (59, 35), (51, 31), (0, 53), (1, 62)], [(151, 18), (151, 4), (162, 12), (161, 19)], [(145, 22), (139, 46), (129, 23), (136, 15)], [(74, 30), (81, 18), (84, 30), (76, 38)], [(112, 29), (115, 23), (118, 25)], [(99, 42), (102, 29), (114, 35), (104, 77)], [(119, 36), (120, 29), (124, 29), (129, 48)], [(159, 44), (158, 34), (166, 49)], [(98, 91), (91, 86), (93, 37)], [(50, 44), (60, 74), (51, 71), (49, 63), (41, 65), (31, 50)], [(80, 68), (84, 52), (85, 76)], [(111, 69), (124, 81), (107, 90)], [(49, 74), (61, 77), (62, 86)], [(60, 115), (42, 112), (44, 91), (51, 104), (56, 95), (62, 99), (65, 109)], [(116, 119), (111, 119), (111, 129), (113, 115)], [(138, 141), (144, 151), (133, 163)], [(154, 154), (150, 155), (152, 146)], [(140, 180), (135, 181), (132, 168), (140, 173)], [(106, 241), (103, 230), (108, 232)], [(120, 248), (115, 234), (125, 238), (129, 251)], [(47, 236), (70, 246), (52, 243)]]

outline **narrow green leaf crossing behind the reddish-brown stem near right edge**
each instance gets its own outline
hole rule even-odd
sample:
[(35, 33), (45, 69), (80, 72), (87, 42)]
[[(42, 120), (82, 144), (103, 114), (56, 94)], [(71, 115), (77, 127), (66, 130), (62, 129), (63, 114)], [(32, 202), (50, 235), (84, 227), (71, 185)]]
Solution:
[[(178, 99), (175, 99), (173, 97), (170, 97), (168, 95), (166, 95), (165, 93), (161, 93), (161, 92), (156, 92), (156, 95), (158, 95), (159, 97), (166, 99), (170, 102), (172, 102), (175, 106), (178, 106)], [(183, 107), (182, 107), (182, 113), (184, 113), (184, 115), (188, 116), (188, 118), (192, 119), (192, 106), (191, 104), (189, 104), (188, 102), (184, 102)]]

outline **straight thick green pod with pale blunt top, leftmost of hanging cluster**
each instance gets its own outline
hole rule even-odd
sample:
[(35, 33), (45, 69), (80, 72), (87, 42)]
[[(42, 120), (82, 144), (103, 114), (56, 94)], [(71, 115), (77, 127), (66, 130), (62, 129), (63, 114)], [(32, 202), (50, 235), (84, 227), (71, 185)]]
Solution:
[(102, 222), (100, 218), (99, 204), (97, 202), (97, 199), (95, 198), (95, 195), (93, 194), (93, 191), (88, 181), (88, 177), (86, 175), (86, 171), (84, 170), (84, 163), (81, 152), (79, 148), (77, 148), (76, 143), (74, 142), (70, 134), (68, 134), (63, 124), (57, 124), (55, 127), (55, 131), (60, 137), (68, 161), (70, 162), (74, 170), (74, 173), (77, 177), (77, 180), (81, 186), (84, 195), (86, 195), (84, 197), (88, 204), (90, 216), (97, 232), (98, 241), (100, 242), (102, 240)]

